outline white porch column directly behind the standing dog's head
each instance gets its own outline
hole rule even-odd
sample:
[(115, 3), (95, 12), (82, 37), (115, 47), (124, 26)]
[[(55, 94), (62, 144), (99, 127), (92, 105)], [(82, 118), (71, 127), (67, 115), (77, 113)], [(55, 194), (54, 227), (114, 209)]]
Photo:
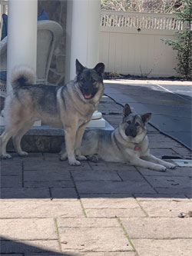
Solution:
[(88, 68), (98, 63), (100, 12), (100, 0), (68, 1), (66, 82), (74, 79), (76, 58)]

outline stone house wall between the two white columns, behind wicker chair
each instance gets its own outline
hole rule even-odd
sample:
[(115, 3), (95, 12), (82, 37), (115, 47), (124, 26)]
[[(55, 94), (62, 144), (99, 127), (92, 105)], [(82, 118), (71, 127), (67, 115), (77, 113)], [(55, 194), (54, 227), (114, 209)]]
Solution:
[(63, 85), (65, 83), (65, 31), (67, 0), (38, 0), (38, 15), (45, 10), (48, 18), (58, 22), (63, 28), (63, 35), (51, 61), (51, 68), (48, 72), (48, 83), (50, 85)]

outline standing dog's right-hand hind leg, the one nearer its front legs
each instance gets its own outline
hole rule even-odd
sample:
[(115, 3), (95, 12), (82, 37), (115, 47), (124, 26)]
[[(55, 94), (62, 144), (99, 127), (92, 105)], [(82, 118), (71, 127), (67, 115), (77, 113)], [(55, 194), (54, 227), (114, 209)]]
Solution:
[(23, 135), (25, 135), (25, 133), (31, 128), (33, 123), (34, 123), (34, 120), (33, 121), (30, 120), (30, 121), (25, 122), (24, 126), (20, 130), (18, 130), (16, 135), (14, 135), (12, 137), (12, 141), (13, 141), (13, 145), (15, 147), (15, 150), (17, 151), (18, 155), (20, 155), (20, 156), (27, 156), (28, 155), (27, 152), (22, 151), (21, 141), (22, 141)]

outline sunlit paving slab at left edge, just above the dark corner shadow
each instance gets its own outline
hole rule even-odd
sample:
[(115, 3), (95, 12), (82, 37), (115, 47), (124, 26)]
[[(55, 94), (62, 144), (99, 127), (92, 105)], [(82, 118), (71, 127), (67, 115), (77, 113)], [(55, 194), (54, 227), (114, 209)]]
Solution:
[(57, 239), (55, 221), (48, 218), (0, 219), (1, 235), (12, 240)]

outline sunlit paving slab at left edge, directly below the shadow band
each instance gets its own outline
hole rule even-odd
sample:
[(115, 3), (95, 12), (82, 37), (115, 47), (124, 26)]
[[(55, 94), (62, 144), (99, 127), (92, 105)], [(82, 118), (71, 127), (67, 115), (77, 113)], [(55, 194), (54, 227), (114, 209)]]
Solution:
[(79, 201), (2, 201), (0, 218), (84, 218)]

